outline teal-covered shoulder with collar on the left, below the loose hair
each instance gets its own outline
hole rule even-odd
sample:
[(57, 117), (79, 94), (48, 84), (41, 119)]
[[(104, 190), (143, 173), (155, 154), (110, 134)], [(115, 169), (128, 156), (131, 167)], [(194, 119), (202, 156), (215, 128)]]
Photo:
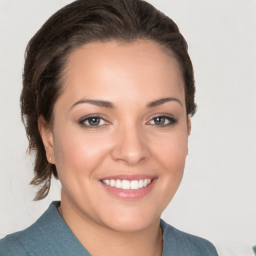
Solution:
[(53, 201), (28, 228), (1, 239), (0, 256), (90, 255), (59, 215), (59, 203)]

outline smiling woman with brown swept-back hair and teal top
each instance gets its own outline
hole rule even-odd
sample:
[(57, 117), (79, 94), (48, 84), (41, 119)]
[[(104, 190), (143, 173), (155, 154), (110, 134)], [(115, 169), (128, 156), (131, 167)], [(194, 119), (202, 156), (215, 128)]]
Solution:
[(21, 112), (35, 199), (61, 201), (1, 255), (217, 255), (160, 219), (187, 154), (194, 80), (176, 24), (141, 0), (77, 0), (29, 41)]

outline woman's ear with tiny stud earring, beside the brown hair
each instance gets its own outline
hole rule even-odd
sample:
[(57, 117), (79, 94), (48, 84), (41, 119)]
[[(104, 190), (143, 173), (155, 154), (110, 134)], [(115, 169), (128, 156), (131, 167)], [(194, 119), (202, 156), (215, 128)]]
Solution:
[(45, 121), (44, 117), (41, 115), (38, 118), (38, 130), (42, 138), (48, 162), (55, 163), (53, 133), (50, 128), (50, 125)]

